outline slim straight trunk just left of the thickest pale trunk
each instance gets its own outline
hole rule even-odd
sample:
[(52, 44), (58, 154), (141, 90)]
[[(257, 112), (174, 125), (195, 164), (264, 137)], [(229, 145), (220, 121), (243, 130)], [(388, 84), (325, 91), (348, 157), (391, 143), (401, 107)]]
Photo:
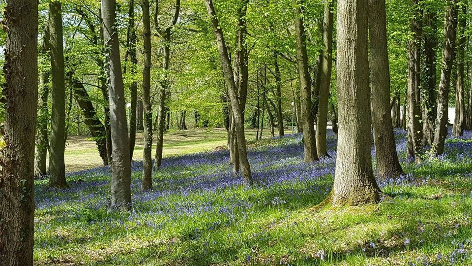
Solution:
[(333, 12), (334, 0), (324, 1), (323, 22), (323, 63), (321, 70), (318, 116), (316, 124), (316, 148), (318, 157), (329, 156), (326, 150), (326, 125), (328, 121), (328, 98), (331, 85), (332, 51), (333, 51)]

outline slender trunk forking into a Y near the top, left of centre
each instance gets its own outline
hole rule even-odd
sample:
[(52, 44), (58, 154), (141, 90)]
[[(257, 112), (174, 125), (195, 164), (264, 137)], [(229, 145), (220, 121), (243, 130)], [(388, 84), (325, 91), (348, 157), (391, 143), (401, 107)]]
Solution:
[(156, 147), (156, 156), (154, 159), (154, 169), (161, 167), (162, 164), (162, 148), (164, 144), (164, 126), (165, 126), (165, 117), (166, 117), (166, 96), (170, 87), (169, 80), (169, 68), (170, 68), (170, 57), (171, 57), (171, 38), (172, 30), (177, 24), (178, 16), (180, 14), (180, 0), (176, 0), (175, 13), (170, 24), (167, 27), (162, 28), (159, 23), (159, 0), (156, 0), (156, 12), (154, 13), (154, 24), (156, 31), (163, 38), (164, 41), (164, 56), (162, 62), (162, 68), (164, 69), (164, 74), (162, 80), (160, 81), (161, 88), (159, 90), (159, 105), (157, 109), (157, 147)]

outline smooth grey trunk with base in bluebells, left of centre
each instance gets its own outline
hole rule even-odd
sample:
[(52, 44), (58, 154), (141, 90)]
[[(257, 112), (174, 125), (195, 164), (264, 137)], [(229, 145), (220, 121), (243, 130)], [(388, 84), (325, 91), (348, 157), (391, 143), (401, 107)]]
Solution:
[(112, 137), (111, 207), (131, 207), (131, 160), (129, 155), (126, 104), (116, 28), (116, 0), (102, 0), (103, 37), (108, 62), (108, 95)]

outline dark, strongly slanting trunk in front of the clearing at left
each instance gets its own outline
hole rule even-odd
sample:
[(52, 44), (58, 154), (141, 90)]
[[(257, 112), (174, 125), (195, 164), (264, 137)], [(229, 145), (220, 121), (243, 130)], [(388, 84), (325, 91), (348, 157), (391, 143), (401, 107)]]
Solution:
[(84, 85), (79, 80), (73, 78), (72, 73), (67, 74), (69, 76), (70, 85), (72, 85), (75, 101), (82, 110), (84, 123), (89, 129), (92, 137), (95, 138), (98, 154), (102, 158), (103, 165), (108, 166), (107, 133), (105, 131), (105, 126), (98, 118), (92, 101), (90, 100), (89, 93), (85, 89)]

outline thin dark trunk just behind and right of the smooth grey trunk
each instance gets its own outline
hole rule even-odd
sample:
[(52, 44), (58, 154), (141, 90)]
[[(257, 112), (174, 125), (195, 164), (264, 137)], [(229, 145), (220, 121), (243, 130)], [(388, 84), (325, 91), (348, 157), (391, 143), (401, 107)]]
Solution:
[[(134, 19), (134, 0), (129, 0), (128, 8), (128, 53), (131, 62), (131, 75), (136, 75), (138, 67), (138, 59), (136, 58), (136, 26)], [(131, 107), (129, 116), (129, 154), (130, 160), (133, 161), (134, 146), (136, 145), (136, 111), (138, 104), (138, 83), (131, 82)]]

